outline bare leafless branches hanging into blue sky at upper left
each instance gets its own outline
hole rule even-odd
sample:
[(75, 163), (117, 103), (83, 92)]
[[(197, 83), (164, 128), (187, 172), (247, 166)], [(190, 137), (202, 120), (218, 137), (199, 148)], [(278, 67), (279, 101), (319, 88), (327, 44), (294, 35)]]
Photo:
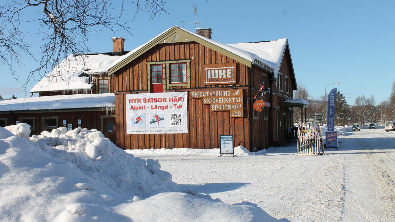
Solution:
[[(144, 2), (144, 3), (143, 3)], [(166, 2), (161, 0), (132, 0), (137, 11), (150, 13), (150, 19), (166, 12)], [(51, 70), (60, 58), (70, 54), (83, 54), (90, 51), (89, 35), (103, 29), (116, 33), (131, 28), (126, 22), (121, 22), (123, 2), (115, 8), (110, 0), (14, 0), (0, 4), (0, 62), (6, 64), (13, 72), (13, 65), (23, 65), (21, 53), (32, 57), (31, 43), (26, 33), (21, 30), (21, 24), (27, 23), (20, 19), (22, 13), (28, 9), (38, 9), (36, 17), (30, 22), (38, 23), (38, 36), (41, 36), (41, 57), (38, 66), (31, 71), (23, 85), (33, 77), (37, 71)], [(136, 12), (137, 13), (137, 12)], [(42, 76), (41, 76), (42, 77)]]

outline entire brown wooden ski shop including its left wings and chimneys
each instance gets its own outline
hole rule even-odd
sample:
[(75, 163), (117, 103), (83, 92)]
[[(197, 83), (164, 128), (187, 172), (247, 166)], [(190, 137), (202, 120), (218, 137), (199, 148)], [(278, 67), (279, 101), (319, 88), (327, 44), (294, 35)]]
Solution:
[[(106, 136), (122, 149), (212, 149), (220, 147), (219, 135), (233, 135), (234, 146), (241, 144), (252, 151), (288, 140), (289, 128), (294, 123), (292, 107), (305, 106), (287, 101), (292, 100), (293, 90), (297, 90), (288, 40), (227, 45), (212, 40), (211, 29), (198, 31), (201, 35), (173, 26), (129, 52), (124, 51), (123, 38), (113, 38), (113, 53), (71, 55), (53, 70), (62, 73), (59, 78), (48, 75), (31, 90), (41, 97), (77, 96), (73, 94), (100, 97), (100, 93), (113, 93), (112, 108), (11, 111), (1, 108), (5, 104), (2, 101), (0, 124), (35, 118), (32, 133), (38, 134), (49, 130), (44, 117), (57, 117), (56, 126), (62, 126), (64, 119), (78, 126), (76, 121), (81, 117), (91, 119), (84, 120), (86, 125), (82, 127), (105, 133), (106, 122), (112, 121), (115, 122), (112, 134)], [(135, 116), (130, 117), (130, 110), (143, 107), (130, 106), (131, 101), (150, 95), (165, 98), (172, 93), (186, 96), (185, 101), (182, 99), (186, 108), (182, 115), (187, 121), (181, 133), (130, 131), (131, 124), (139, 124), (137, 120), (133, 122)], [(261, 112), (253, 109), (257, 100), (265, 102)], [(153, 113), (147, 120), (148, 117), (149, 124), (156, 124)], [(156, 120), (159, 127), (161, 119)]]

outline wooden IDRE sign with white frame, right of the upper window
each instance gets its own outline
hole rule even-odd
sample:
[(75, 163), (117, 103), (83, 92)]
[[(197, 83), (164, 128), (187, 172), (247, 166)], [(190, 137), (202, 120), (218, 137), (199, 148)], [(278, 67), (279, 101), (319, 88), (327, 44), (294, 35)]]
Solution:
[(207, 64), (203, 73), (205, 85), (236, 83), (236, 63)]

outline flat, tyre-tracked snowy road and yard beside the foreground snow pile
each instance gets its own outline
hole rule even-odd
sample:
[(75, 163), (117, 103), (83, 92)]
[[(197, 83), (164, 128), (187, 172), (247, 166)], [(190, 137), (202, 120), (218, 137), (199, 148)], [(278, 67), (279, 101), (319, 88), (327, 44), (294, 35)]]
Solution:
[(339, 142), (324, 156), (294, 156), (296, 147), (282, 147), (233, 158), (139, 157), (159, 159), (183, 188), (225, 203), (249, 201), (279, 219), (395, 221), (395, 132), (362, 129)]

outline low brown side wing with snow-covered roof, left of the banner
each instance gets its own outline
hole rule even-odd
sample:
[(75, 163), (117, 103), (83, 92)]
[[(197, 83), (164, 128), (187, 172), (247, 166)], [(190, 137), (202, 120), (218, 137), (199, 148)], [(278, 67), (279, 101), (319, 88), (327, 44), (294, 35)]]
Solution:
[(75, 94), (0, 101), (0, 126), (30, 125), (30, 135), (65, 126), (98, 129), (115, 143), (115, 96)]

